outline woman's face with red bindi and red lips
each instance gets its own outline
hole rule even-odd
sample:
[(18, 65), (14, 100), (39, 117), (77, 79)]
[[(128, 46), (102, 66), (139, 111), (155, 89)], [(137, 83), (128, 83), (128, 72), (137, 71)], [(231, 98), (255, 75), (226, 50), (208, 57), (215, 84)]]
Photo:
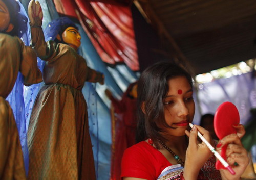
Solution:
[(168, 85), (169, 91), (163, 99), (164, 117), (172, 128), (160, 127), (164, 128), (164, 134), (183, 136), (195, 114), (193, 90), (185, 76), (169, 79)]

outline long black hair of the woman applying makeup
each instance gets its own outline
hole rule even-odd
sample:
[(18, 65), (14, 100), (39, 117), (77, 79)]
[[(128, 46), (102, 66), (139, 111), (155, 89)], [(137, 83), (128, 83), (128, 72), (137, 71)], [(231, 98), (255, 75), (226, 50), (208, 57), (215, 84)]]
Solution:
[[(137, 142), (151, 138), (159, 148), (157, 139), (166, 141), (160, 135), (163, 132), (157, 124), (169, 125), (165, 121), (163, 99), (168, 91), (168, 80), (176, 76), (185, 76), (192, 87), (191, 75), (179, 65), (170, 62), (159, 62), (146, 68), (138, 80), (138, 98), (137, 98)], [(144, 111), (142, 104), (144, 103)]]

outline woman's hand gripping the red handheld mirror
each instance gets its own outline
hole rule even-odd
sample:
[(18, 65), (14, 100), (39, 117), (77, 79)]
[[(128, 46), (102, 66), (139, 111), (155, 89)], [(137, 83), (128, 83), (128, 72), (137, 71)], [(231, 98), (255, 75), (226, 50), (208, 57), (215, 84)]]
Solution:
[(244, 127), (241, 124), (234, 127), (238, 130), (237, 134), (230, 134), (225, 136), (222, 140), (219, 141), (216, 149), (219, 153), (221, 153), (221, 148), (224, 145), (228, 144), (226, 150), (226, 161), (236, 172), (235, 175), (231, 175), (228, 170), (220, 169), (222, 178), (228, 180), (240, 179), (241, 175), (243, 174), (249, 163), (247, 151), (243, 147), (240, 140), (240, 138), (242, 138), (245, 134)]

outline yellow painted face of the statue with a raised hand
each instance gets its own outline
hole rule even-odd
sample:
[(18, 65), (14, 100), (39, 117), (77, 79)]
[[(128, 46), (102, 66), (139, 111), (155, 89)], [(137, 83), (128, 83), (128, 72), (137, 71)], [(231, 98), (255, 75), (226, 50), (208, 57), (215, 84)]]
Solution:
[(65, 43), (73, 47), (74, 49), (78, 49), (81, 45), (81, 35), (74, 27), (68, 27), (62, 33), (62, 39)]

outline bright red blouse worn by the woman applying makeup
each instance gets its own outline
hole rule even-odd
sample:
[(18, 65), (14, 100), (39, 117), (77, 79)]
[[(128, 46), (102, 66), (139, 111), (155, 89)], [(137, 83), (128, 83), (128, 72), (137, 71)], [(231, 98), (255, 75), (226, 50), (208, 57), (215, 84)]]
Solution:
[[(199, 179), (220, 180), (220, 172), (216, 170), (215, 163), (214, 156), (209, 158), (200, 170)], [(141, 141), (124, 151), (121, 177), (156, 180), (168, 166), (172, 164), (160, 151), (147, 142)]]

